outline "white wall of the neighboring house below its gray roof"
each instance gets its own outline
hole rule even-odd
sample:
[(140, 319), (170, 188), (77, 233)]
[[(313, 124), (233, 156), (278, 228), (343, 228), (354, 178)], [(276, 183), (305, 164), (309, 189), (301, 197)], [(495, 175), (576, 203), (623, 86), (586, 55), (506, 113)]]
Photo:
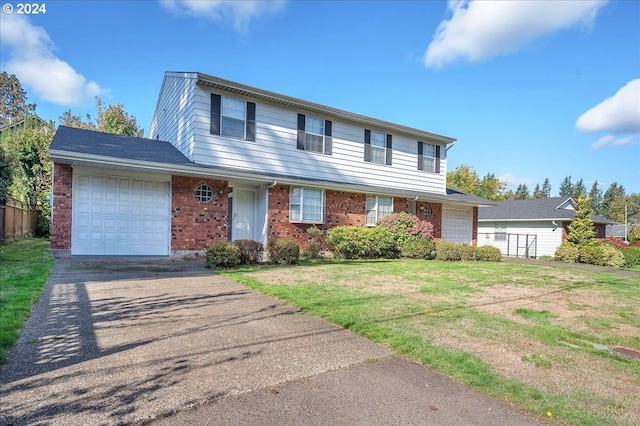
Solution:
[[(506, 225), (506, 232), (510, 234), (521, 234), (519, 253), (522, 255), (524, 235), (536, 236), (536, 256), (553, 256), (556, 249), (562, 244), (562, 222), (556, 222), (556, 228), (551, 221), (527, 221), (527, 222), (505, 222), (497, 221)], [(496, 222), (478, 223), (478, 246), (490, 245), (498, 247), (503, 255), (507, 255), (507, 241), (496, 241), (494, 239)], [(515, 237), (511, 237), (509, 244), (509, 254), (515, 256)], [(533, 253), (531, 254), (533, 256)]]

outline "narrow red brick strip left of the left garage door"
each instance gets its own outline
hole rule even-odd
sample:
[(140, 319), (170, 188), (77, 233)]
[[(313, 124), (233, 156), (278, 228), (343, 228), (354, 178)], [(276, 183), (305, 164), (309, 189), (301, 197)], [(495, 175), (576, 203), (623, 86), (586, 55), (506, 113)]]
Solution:
[(51, 248), (71, 250), (71, 192), (73, 169), (64, 164), (53, 165), (53, 221)]

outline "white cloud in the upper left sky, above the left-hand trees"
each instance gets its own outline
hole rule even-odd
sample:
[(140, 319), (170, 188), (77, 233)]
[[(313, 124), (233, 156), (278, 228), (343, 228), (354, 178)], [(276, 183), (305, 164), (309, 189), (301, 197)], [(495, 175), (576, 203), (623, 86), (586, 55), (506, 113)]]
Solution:
[(82, 105), (104, 92), (55, 54), (55, 46), (42, 27), (24, 16), (2, 14), (0, 38), (9, 60), (2, 67), (15, 74), (28, 92), (63, 106)]

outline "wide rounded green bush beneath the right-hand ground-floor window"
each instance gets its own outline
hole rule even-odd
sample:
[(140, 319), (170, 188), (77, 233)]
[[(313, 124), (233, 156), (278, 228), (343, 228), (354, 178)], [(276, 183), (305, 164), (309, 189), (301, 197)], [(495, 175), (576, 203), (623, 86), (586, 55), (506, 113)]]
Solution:
[(394, 234), (378, 226), (336, 226), (327, 231), (327, 245), (343, 259), (393, 259), (400, 254)]

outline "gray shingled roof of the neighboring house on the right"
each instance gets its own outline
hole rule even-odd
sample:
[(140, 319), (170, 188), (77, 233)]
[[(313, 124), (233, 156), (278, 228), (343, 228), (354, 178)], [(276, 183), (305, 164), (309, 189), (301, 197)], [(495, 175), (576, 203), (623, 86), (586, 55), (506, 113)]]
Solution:
[[(478, 220), (573, 220), (576, 211), (559, 208), (566, 202), (575, 203), (571, 197), (538, 198), (529, 200), (507, 200), (496, 207), (480, 207)], [(611, 219), (602, 216), (591, 216), (595, 223), (615, 223)]]

